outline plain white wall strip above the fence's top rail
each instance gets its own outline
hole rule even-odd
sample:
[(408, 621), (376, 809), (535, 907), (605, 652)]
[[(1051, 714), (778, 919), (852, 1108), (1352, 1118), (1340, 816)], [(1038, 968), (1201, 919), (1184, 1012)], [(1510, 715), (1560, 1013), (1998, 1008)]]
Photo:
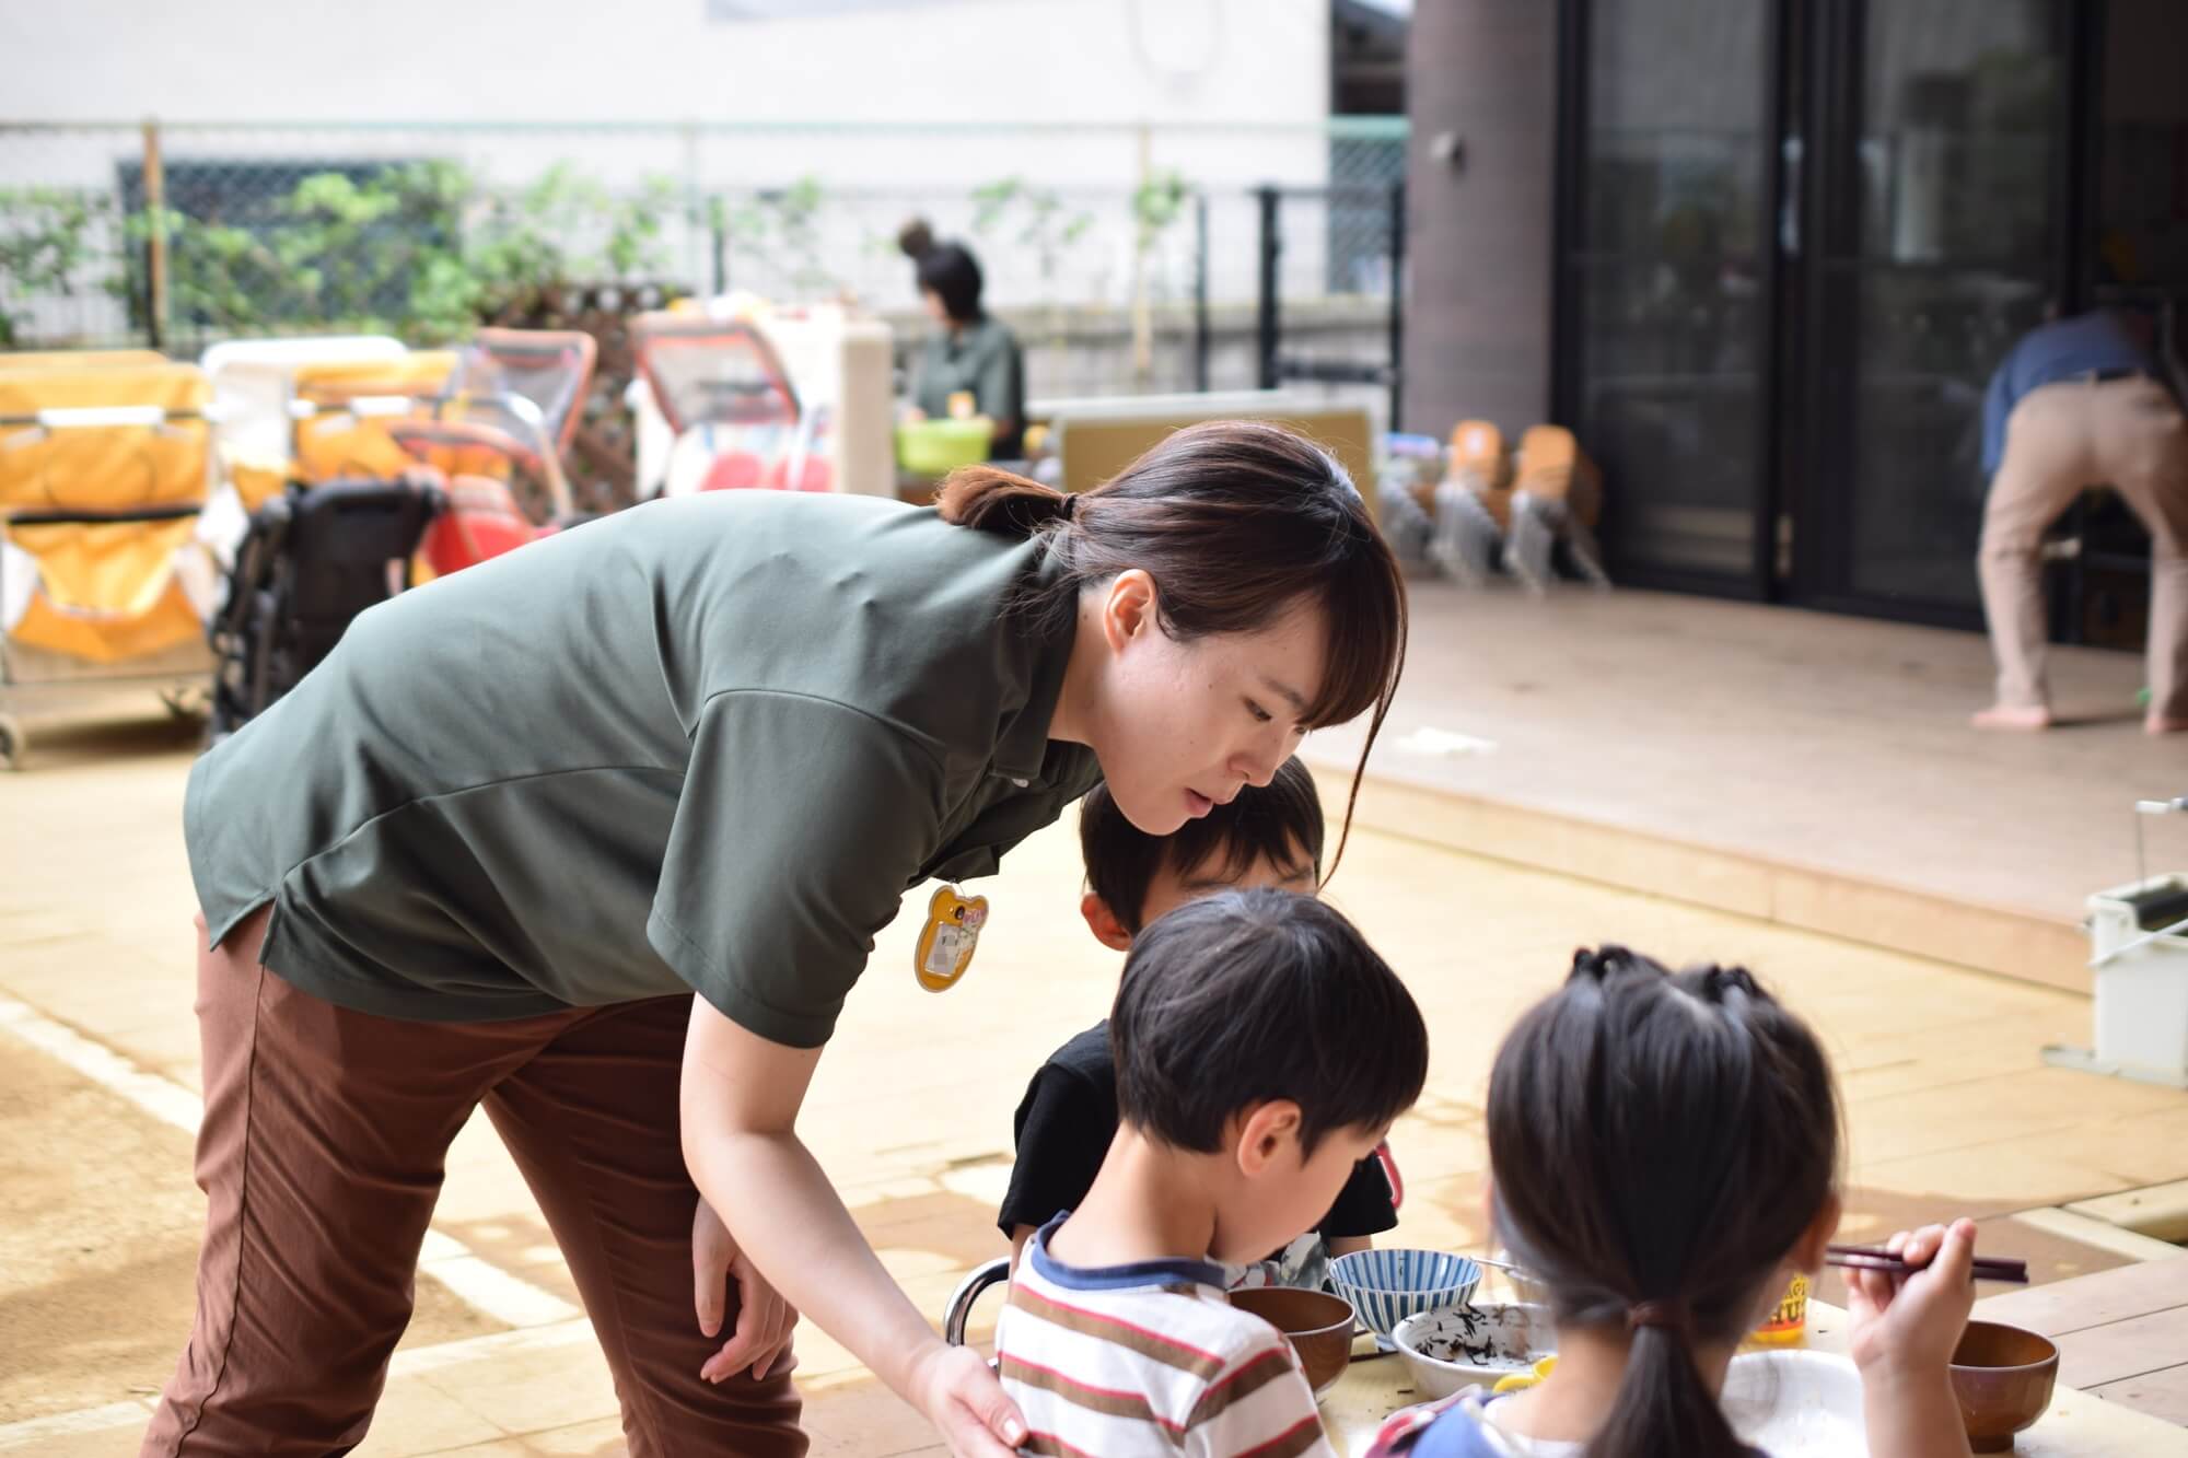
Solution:
[(0, 112), (11, 120), (982, 125), (1267, 123), (1328, 112), (1328, 0), (812, 9), (792, 20), (709, 20), (709, 0), (9, 0)]

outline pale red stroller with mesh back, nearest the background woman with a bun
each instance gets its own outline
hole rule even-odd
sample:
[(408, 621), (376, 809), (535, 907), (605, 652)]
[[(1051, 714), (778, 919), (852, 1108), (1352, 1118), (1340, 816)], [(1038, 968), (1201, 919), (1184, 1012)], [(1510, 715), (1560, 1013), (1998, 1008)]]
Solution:
[(667, 458), (641, 473), (641, 499), (834, 486), (829, 412), (801, 407), (781, 357), (753, 324), (648, 313), (630, 337), (639, 379), (674, 433)]

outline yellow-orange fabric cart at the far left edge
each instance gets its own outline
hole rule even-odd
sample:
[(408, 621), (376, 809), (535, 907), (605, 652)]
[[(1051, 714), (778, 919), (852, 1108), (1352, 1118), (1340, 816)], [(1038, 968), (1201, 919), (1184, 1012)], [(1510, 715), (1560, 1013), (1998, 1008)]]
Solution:
[(0, 357), (0, 764), (33, 690), (138, 681), (195, 711), (208, 405), (197, 366), (142, 350)]

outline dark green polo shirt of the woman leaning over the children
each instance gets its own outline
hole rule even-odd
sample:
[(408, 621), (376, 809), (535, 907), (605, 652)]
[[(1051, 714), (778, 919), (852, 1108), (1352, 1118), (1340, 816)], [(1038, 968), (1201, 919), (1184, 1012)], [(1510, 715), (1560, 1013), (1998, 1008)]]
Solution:
[[(359, 1011), (521, 1018), (696, 990), (816, 1046), (928, 876), (1101, 771), (1052, 744), (1037, 543), (869, 497), (656, 501), (359, 615), (190, 771), (214, 946)], [(910, 970), (904, 972), (910, 976)]]

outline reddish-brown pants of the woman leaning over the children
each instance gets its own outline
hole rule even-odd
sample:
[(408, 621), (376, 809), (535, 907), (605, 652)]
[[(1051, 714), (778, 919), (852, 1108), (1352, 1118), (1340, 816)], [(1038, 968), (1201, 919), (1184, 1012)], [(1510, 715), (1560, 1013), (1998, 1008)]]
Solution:
[(689, 998), (516, 1022), (400, 1022), (256, 963), (265, 913), (206, 950), (197, 924), (206, 1246), (197, 1322), (144, 1454), (346, 1454), (363, 1440), (449, 1143), (477, 1103), (584, 1296), (635, 1456), (796, 1458), (788, 1364), (707, 1384), (676, 1127)]

